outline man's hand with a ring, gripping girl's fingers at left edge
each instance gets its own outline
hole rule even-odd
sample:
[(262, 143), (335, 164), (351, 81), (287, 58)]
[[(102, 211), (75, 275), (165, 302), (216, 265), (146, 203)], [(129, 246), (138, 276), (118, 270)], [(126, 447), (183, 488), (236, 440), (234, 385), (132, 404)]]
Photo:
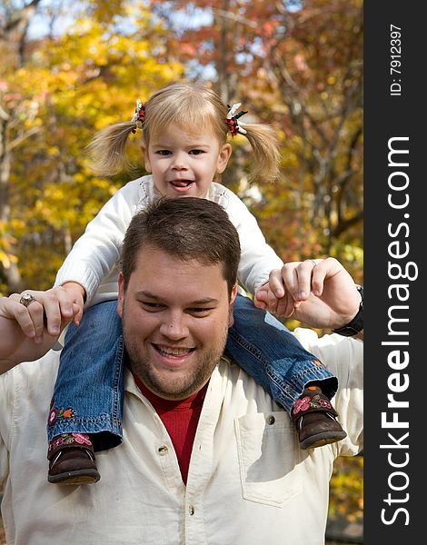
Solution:
[(27, 306), (20, 302), (22, 293), (0, 299), (0, 373), (44, 356), (79, 312), (63, 288), (25, 293), (35, 297)]

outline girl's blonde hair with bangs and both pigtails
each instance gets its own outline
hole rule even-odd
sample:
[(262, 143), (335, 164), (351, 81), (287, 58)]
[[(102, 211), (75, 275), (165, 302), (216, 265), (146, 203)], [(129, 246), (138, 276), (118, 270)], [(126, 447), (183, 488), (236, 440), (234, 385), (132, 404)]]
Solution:
[[(200, 134), (211, 130), (222, 145), (227, 142), (229, 126), (225, 123), (229, 108), (212, 89), (202, 84), (171, 84), (154, 93), (144, 104), (143, 140), (148, 148), (150, 138), (161, 134), (171, 124), (186, 132)], [(239, 122), (240, 123), (240, 122)], [(272, 181), (279, 176), (280, 153), (276, 135), (267, 124), (242, 124), (253, 150), (251, 179), (262, 177)], [(134, 121), (110, 125), (94, 136), (88, 145), (94, 172), (113, 176), (131, 167), (125, 154)]]

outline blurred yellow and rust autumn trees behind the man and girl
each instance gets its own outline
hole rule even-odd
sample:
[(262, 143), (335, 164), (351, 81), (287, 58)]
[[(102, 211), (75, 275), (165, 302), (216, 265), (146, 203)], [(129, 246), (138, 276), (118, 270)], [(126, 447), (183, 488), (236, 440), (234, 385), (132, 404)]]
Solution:
[(84, 146), (182, 78), (277, 131), (280, 180), (248, 181), (237, 136), (222, 182), (283, 261), (333, 255), (362, 282), (362, 0), (4, 0), (0, 58), (0, 293), (52, 285), (86, 223), (144, 173), (138, 135), (135, 173), (108, 180)]

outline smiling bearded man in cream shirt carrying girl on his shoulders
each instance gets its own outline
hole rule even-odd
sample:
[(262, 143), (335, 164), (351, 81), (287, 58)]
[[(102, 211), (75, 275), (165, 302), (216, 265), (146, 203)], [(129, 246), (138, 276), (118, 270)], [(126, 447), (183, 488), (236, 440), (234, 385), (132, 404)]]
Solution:
[[(348, 433), (303, 451), (287, 413), (222, 357), (240, 257), (223, 209), (161, 200), (134, 217), (122, 257), (124, 442), (98, 453), (103, 479), (91, 487), (45, 481), (45, 413), (59, 359), (45, 352), (57, 335), (42, 335), (40, 302), (0, 300), (0, 370), (11, 369), (0, 377), (9, 545), (323, 543), (333, 461), (361, 450), (362, 342), (298, 333), (338, 376), (334, 404)], [(291, 292), (321, 290), (293, 311), (316, 327), (342, 327), (359, 308), (359, 292), (335, 260), (294, 263), (283, 277), (287, 313)], [(43, 303), (51, 316), (51, 302)], [(73, 317), (65, 306), (64, 322)]]

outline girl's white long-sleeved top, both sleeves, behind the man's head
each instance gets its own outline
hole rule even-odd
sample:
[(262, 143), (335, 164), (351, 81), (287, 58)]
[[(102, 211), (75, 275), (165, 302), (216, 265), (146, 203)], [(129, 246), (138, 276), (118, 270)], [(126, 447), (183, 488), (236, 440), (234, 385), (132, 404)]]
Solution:
[[(124, 233), (135, 213), (160, 197), (153, 176), (126, 183), (104, 204), (59, 269), (55, 286), (78, 282), (86, 291), (86, 306), (117, 297), (117, 275)], [(283, 266), (273, 248), (265, 242), (253, 214), (232, 191), (212, 183), (206, 198), (221, 204), (237, 229), (242, 247), (239, 282), (254, 294), (272, 269)]]

